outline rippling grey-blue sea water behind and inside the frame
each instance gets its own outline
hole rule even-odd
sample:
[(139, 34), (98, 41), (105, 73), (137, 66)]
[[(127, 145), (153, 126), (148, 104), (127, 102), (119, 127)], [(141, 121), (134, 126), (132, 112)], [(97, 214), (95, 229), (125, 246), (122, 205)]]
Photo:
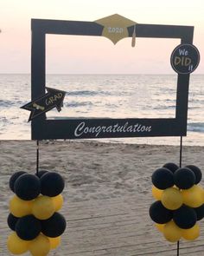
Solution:
[[(176, 75), (47, 75), (46, 86), (67, 91), (64, 107), (47, 118), (175, 117)], [(184, 145), (204, 146), (204, 75), (191, 75), (188, 135)], [(30, 75), (0, 75), (0, 140), (29, 140)], [(98, 139), (99, 140), (99, 139)], [(179, 137), (100, 139), (105, 142), (179, 145)]]

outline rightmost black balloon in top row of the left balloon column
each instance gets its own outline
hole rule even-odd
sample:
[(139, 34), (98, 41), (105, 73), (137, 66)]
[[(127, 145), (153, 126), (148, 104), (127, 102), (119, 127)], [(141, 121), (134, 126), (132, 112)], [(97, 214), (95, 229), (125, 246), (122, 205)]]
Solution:
[(41, 194), (48, 196), (56, 196), (61, 194), (65, 187), (65, 181), (60, 174), (48, 172), (41, 176)]

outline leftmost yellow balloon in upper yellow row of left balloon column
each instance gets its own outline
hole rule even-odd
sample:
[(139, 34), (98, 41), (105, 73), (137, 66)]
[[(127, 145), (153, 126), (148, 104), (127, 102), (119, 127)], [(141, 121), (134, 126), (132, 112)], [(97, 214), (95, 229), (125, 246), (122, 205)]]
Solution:
[(22, 200), (14, 195), (10, 200), (10, 213), (22, 217), (32, 213), (33, 200)]

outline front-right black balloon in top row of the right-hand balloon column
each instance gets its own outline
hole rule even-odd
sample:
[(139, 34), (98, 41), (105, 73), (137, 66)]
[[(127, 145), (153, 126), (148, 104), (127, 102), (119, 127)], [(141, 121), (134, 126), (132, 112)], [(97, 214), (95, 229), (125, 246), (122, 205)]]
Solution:
[(188, 189), (194, 186), (195, 175), (187, 167), (179, 168), (174, 174), (175, 186), (180, 189)]

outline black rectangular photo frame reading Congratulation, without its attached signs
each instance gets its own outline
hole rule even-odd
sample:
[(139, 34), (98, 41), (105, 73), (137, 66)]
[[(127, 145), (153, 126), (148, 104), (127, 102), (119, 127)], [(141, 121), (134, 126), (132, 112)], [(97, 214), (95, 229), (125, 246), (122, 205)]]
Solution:
[[(46, 35), (102, 36), (104, 27), (95, 22), (32, 19), (31, 98), (45, 94)], [(137, 23), (127, 28), (128, 36), (180, 38), (192, 44), (194, 27)], [(46, 115), (32, 121), (32, 139), (87, 139), (187, 134), (189, 74), (177, 74), (175, 118), (84, 118), (47, 120)]]

